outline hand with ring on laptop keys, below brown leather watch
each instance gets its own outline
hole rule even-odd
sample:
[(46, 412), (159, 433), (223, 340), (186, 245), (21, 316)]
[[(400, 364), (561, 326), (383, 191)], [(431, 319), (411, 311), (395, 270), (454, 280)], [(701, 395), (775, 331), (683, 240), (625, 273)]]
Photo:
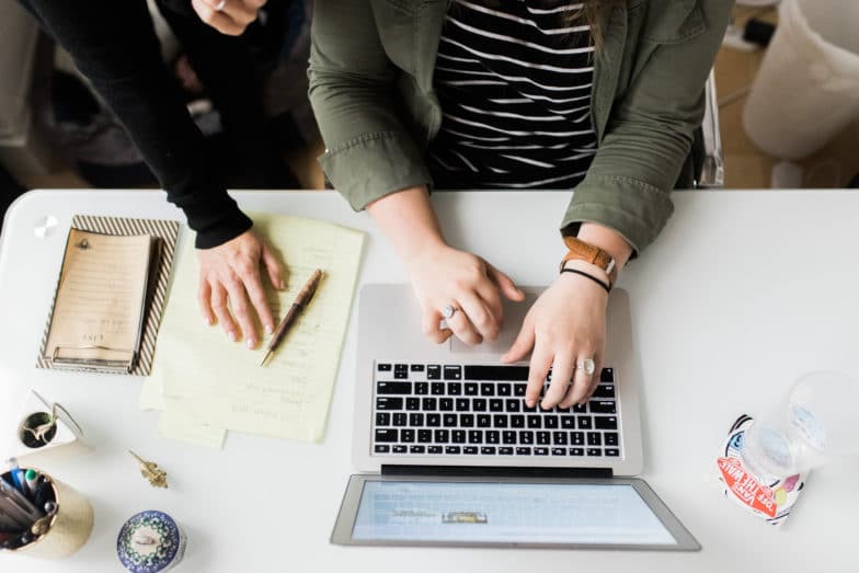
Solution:
[[(522, 360), (534, 348), (525, 393), (529, 408), (539, 400), (550, 367), (552, 380), (541, 408), (570, 408), (594, 392), (602, 371), (607, 303), (608, 294), (599, 285), (563, 273), (530, 308), (516, 341), (501, 357), (505, 363)], [(587, 358), (595, 365), (591, 375), (581, 367)]]

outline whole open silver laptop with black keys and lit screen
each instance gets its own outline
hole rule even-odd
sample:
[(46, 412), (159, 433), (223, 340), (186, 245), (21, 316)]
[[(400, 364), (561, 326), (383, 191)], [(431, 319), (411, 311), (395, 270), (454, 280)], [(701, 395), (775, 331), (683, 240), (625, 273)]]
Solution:
[[(527, 362), (502, 365), (542, 291), (505, 302), (499, 339), (436, 345), (409, 285), (359, 295), (351, 477), (331, 541), (351, 546), (696, 551), (650, 486), (629, 295), (609, 298), (587, 404), (525, 405)], [(549, 379), (551, 373), (549, 374)], [(546, 381), (548, 386), (548, 380)]]

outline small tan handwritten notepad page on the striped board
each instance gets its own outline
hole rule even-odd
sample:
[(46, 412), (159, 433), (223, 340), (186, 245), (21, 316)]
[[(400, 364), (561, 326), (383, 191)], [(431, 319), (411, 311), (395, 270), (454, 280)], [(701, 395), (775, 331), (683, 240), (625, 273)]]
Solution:
[(140, 345), (152, 245), (148, 234), (69, 231), (46, 358), (130, 364)]

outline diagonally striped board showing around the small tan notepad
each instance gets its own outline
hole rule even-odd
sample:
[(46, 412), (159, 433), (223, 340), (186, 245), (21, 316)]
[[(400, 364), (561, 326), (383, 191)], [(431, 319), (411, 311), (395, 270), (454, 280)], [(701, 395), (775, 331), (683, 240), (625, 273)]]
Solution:
[[(168, 282), (170, 279), (170, 270), (173, 265), (173, 255), (175, 253), (176, 240), (179, 238), (179, 221), (171, 220), (157, 220), (157, 219), (130, 219), (125, 217), (95, 217), (89, 215), (76, 215), (71, 220), (71, 226), (76, 229), (84, 231), (100, 232), (105, 234), (115, 236), (135, 236), (135, 234), (151, 234), (161, 239), (161, 253), (158, 262), (158, 267), (154, 270), (156, 277), (153, 279), (153, 288), (149, 308), (145, 319), (142, 337), (140, 340), (140, 351), (134, 367), (128, 374), (136, 376), (149, 376), (152, 369), (152, 359), (156, 353), (156, 337), (158, 335), (158, 326), (161, 323), (161, 316), (164, 311), (167, 302)], [(51, 368), (50, 360), (46, 359), (45, 346), (48, 341), (48, 332), (54, 316), (54, 307), (56, 303), (56, 289), (54, 300), (50, 303), (50, 312), (48, 313), (45, 330), (42, 334), (42, 342), (38, 348), (38, 358), (36, 359), (37, 368)], [(92, 368), (81, 366), (80, 368), (64, 368), (65, 370), (76, 369), (81, 371), (93, 371)]]

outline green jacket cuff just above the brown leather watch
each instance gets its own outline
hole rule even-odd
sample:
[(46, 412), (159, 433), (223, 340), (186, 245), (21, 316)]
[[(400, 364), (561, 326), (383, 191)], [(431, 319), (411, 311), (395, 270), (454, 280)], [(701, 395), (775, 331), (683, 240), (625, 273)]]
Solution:
[(669, 193), (626, 176), (587, 175), (575, 187), (561, 232), (597, 222), (619, 232), (633, 256), (653, 242), (674, 211)]

